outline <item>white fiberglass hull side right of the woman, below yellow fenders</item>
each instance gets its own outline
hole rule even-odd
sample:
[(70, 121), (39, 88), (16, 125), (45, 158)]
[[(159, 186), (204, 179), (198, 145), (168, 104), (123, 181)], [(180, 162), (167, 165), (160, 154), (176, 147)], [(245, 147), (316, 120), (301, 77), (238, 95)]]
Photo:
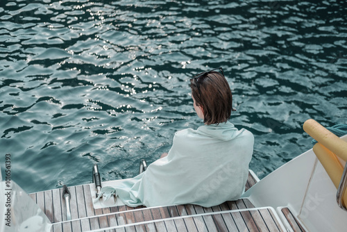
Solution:
[[(347, 141), (347, 135), (342, 139)], [(347, 212), (337, 206), (336, 192), (310, 149), (266, 176), (244, 197), (256, 207), (289, 207), (309, 231), (346, 231)]]

